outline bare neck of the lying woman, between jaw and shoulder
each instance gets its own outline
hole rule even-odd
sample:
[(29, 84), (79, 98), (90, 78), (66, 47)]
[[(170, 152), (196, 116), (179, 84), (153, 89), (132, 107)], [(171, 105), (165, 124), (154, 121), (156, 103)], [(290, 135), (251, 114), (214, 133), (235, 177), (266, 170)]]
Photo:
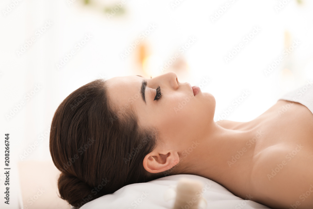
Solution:
[[(200, 175), (221, 185), (249, 178), (252, 170), (254, 147), (259, 130), (249, 131), (226, 129), (217, 123), (205, 130), (196, 152), (188, 160), (194, 167), (190, 174)], [(262, 134), (262, 133), (261, 133)], [(246, 176), (244, 176), (246, 175)]]

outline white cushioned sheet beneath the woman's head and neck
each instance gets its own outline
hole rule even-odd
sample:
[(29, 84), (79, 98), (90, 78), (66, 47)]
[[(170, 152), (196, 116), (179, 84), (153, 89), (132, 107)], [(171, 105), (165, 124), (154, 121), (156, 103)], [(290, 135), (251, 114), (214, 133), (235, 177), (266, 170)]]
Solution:
[[(81, 209), (172, 209), (176, 197), (177, 181), (182, 178), (200, 180), (203, 183), (202, 193), (205, 201), (201, 208), (234, 208), (234, 209), (260, 209), (269, 208), (253, 200), (241, 199), (233, 195), (222, 185), (198, 175), (172, 175), (162, 177), (146, 183), (126, 185), (110, 195), (92, 200)], [(136, 201), (136, 202), (135, 202)], [(186, 203), (186, 209), (188, 205)]]

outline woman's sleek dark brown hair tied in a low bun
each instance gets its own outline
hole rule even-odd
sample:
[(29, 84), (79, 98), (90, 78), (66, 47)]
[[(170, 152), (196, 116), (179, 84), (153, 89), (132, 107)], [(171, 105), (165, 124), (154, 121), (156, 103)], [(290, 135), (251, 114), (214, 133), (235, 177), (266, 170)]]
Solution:
[(73, 91), (51, 124), (49, 148), (61, 171), (60, 197), (76, 208), (125, 185), (169, 175), (144, 169), (143, 159), (156, 148), (158, 133), (138, 127), (133, 110), (115, 114), (118, 107), (110, 106), (105, 84), (95, 80)]

